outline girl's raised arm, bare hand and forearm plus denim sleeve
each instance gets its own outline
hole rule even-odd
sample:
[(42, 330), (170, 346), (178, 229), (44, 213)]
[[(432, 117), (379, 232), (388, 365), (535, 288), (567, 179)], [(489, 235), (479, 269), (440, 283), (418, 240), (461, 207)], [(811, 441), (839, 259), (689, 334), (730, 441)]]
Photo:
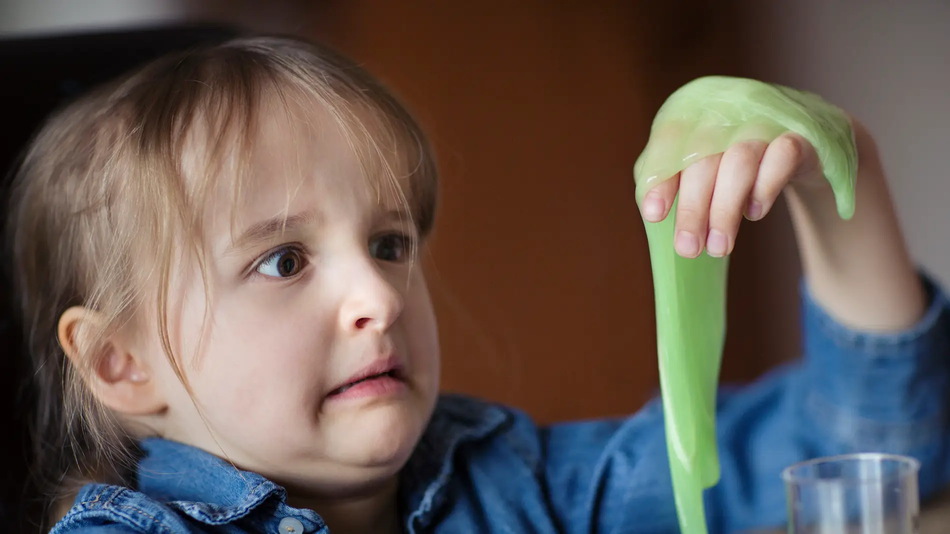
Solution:
[[(700, 160), (646, 193), (641, 205), (645, 219), (658, 221), (678, 194), (677, 251), (721, 255), (731, 252), (743, 213), (758, 220), (785, 191), (801, 247), (805, 359), (721, 396), (722, 476), (707, 492), (712, 532), (781, 525), (786, 508), (779, 473), (807, 458), (908, 454), (921, 460), (922, 495), (950, 483), (947, 302), (921, 281), (907, 254), (881, 162), (860, 124), (855, 140), (857, 211), (848, 221), (837, 212), (815, 150), (792, 134)], [(580, 520), (577, 531), (675, 530), (661, 413), (655, 406), (616, 425), (542, 434), (548, 479), (577, 481), (583, 470), (592, 475), (580, 495), (578, 486), (551, 485), (552, 497), (567, 510), (564, 521)], [(581, 451), (599, 456), (581, 461)], [(578, 513), (582, 509), (590, 514)]]

